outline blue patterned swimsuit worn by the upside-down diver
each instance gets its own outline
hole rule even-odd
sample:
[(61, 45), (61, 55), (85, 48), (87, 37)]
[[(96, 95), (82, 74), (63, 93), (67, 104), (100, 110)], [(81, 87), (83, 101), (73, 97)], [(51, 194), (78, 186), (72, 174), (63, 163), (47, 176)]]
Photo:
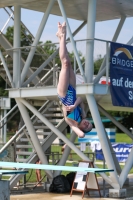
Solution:
[[(66, 96), (60, 97), (58, 95), (58, 97), (65, 106), (74, 105), (76, 101), (76, 90), (71, 85), (69, 85)], [(77, 106), (72, 112), (67, 112), (67, 117), (79, 123), (81, 121), (81, 108)]]

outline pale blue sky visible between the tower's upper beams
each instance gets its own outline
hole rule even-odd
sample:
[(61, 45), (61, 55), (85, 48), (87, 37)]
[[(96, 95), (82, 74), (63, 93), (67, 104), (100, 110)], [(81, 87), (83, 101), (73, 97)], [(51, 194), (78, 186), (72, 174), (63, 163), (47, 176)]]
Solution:
[[(28, 27), (30, 32), (36, 36), (38, 27), (40, 25), (40, 22), (43, 17), (43, 13), (27, 10), (27, 9), (21, 9), (21, 20), (22, 22)], [(0, 29), (4, 26), (6, 21), (8, 20), (8, 15), (4, 11), (3, 8), (0, 9)], [(48, 21), (45, 26), (45, 30), (42, 33), (41, 41), (45, 42), (47, 40), (51, 40), (52, 42), (58, 42), (58, 38), (56, 37), (57, 32), (57, 23), (63, 22), (63, 17), (50, 15), (48, 18)], [(82, 22), (78, 20), (72, 20), (68, 19), (71, 31), (73, 32)], [(112, 37), (115, 33), (115, 30), (117, 28), (117, 25), (119, 23), (119, 20), (110, 20), (110, 21), (102, 21), (102, 22), (96, 22), (95, 25), (95, 38), (98, 39), (104, 39), (104, 40), (112, 40)], [(119, 38), (117, 42), (126, 44), (128, 40), (133, 36), (133, 18), (127, 18), (124, 26), (122, 28), (121, 34), (119, 35)], [(13, 26), (13, 20), (10, 20), (8, 23), (8, 26)], [(4, 30), (6, 31), (6, 29)], [(75, 36), (75, 40), (79, 39), (85, 39), (86, 38), (86, 26)], [(95, 42), (95, 50), (94, 54), (95, 56), (98, 56), (100, 54), (105, 54), (105, 43), (104, 42)], [(77, 48), (80, 50), (83, 54), (85, 53), (85, 42), (78, 42)]]

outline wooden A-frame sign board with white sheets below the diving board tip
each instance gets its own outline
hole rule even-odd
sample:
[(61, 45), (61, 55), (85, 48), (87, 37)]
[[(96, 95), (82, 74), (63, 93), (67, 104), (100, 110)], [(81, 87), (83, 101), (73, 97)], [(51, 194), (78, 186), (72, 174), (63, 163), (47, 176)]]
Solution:
[[(78, 167), (94, 168), (94, 165), (93, 165), (93, 162), (79, 161)], [(82, 192), (82, 198), (83, 198), (86, 191), (89, 195), (89, 190), (98, 191), (99, 196), (101, 197), (100, 188), (98, 185), (96, 174), (89, 173), (89, 172), (77, 172), (75, 175), (75, 179), (73, 181), (70, 196), (72, 196), (73, 191), (77, 191), (77, 192)]]

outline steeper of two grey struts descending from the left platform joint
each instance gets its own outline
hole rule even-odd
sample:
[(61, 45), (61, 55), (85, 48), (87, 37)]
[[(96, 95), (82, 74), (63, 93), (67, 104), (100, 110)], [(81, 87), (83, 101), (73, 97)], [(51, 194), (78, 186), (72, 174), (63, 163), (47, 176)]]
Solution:
[[(36, 149), (36, 152), (37, 152), (41, 162), (43, 164), (47, 165), (48, 164), (47, 157), (45, 156), (45, 154), (43, 152), (43, 149), (42, 149), (41, 144), (39, 142), (39, 139), (38, 139), (38, 137), (36, 135), (35, 129), (33, 127), (33, 124), (31, 122), (31, 119), (30, 119), (30, 117), (28, 115), (28, 112), (26, 110), (26, 107), (19, 101), (19, 99), (16, 99), (16, 102), (18, 104), (18, 107), (19, 107), (19, 110), (20, 110), (21, 115), (23, 117), (23, 120), (25, 122), (25, 125), (26, 125), (26, 127), (28, 129), (28, 132), (29, 132), (29, 135), (31, 137), (32, 143), (34, 145), (34, 148)], [(47, 173), (47, 176), (49, 178), (53, 177), (51, 171), (46, 171), (46, 173)]]

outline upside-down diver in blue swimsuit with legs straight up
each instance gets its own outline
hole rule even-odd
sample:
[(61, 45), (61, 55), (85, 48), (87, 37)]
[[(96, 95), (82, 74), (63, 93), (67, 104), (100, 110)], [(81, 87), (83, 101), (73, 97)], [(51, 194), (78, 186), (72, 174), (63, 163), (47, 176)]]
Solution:
[(56, 33), (60, 41), (59, 56), (62, 64), (57, 93), (63, 104), (63, 113), (66, 123), (78, 135), (84, 137), (86, 132), (91, 131), (92, 124), (85, 119), (84, 104), (80, 97), (76, 97), (76, 77), (71, 66), (66, 48), (66, 23), (58, 23)]

